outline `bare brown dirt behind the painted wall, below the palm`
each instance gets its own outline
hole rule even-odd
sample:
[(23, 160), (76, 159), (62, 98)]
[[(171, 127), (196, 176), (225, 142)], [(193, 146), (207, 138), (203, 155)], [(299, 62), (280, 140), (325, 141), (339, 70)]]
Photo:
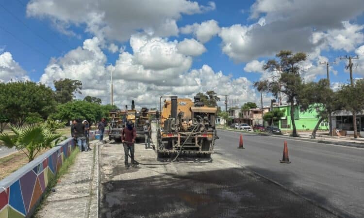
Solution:
[[(43, 150), (37, 156), (45, 153), (48, 149)], [(36, 156), (36, 157), (37, 157)], [(17, 171), (19, 168), (28, 163), (28, 157), (21, 151), (0, 158), (0, 180)]]

